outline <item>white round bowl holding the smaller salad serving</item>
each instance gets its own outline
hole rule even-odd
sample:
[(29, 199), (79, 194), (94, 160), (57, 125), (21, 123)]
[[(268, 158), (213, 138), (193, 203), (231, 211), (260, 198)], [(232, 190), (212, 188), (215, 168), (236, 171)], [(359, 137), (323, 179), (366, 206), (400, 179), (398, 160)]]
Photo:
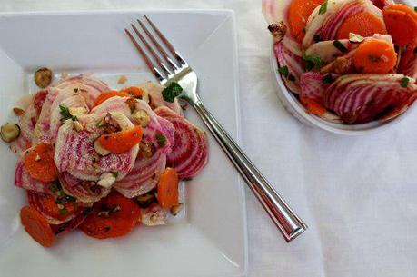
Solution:
[(283, 80), (281, 79), (281, 75), (278, 74), (278, 62), (276, 60), (275, 51), (273, 50), (273, 45), (271, 47), (271, 69), (276, 80), (277, 90), (276, 94), (280, 99), (281, 103), (285, 107), (285, 109), (290, 113), (293, 114), (295, 118), (300, 120), (303, 124), (307, 124), (309, 126), (317, 127), (323, 129), (325, 131), (334, 133), (334, 134), (344, 134), (344, 135), (363, 135), (363, 134), (372, 134), (376, 132), (380, 132), (382, 130), (386, 130), (391, 127), (393, 124), (399, 123), (402, 119), (405, 118), (408, 114), (412, 113), (412, 109), (415, 105), (412, 105), (408, 108), (408, 110), (400, 114), (397, 117), (394, 117), (392, 120), (388, 121), (372, 121), (367, 124), (338, 124), (332, 123), (323, 118), (316, 116), (314, 114), (308, 114), (301, 104), (297, 97), (287, 89), (285, 84), (283, 84)]

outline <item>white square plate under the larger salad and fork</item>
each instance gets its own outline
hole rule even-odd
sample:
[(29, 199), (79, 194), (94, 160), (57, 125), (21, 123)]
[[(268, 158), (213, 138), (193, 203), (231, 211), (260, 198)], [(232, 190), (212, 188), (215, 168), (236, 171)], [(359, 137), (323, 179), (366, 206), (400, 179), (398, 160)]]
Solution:
[[(142, 12), (0, 15), (0, 120), (16, 121), (15, 101), (35, 92), (33, 73), (92, 72), (110, 86), (154, 80), (124, 27)], [(238, 135), (237, 54), (231, 11), (146, 12), (192, 64), (200, 94), (226, 130)], [(186, 116), (204, 128), (194, 111)], [(204, 128), (205, 129), (205, 128)], [(208, 131), (206, 130), (208, 133)], [(25, 192), (14, 186), (15, 155), (0, 145), (0, 269), (2, 276), (243, 276), (247, 238), (243, 187), (209, 134), (210, 161), (184, 183), (186, 213), (165, 226), (94, 240), (82, 232), (59, 237), (45, 249), (23, 230)]]

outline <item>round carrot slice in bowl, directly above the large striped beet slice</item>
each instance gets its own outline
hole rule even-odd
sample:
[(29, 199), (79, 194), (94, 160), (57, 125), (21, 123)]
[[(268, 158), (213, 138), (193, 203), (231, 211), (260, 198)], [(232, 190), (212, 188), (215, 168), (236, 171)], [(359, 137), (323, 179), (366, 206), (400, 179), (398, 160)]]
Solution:
[(358, 46), (352, 61), (361, 73), (387, 74), (396, 64), (397, 55), (392, 45), (373, 39)]

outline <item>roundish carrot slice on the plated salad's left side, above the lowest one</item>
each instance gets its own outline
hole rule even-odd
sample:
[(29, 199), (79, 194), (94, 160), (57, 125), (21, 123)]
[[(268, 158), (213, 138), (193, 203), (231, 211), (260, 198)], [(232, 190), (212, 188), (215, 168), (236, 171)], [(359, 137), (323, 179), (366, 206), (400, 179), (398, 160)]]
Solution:
[(35, 180), (52, 182), (58, 178), (54, 162), (54, 147), (51, 144), (38, 144), (25, 156), (25, 170)]

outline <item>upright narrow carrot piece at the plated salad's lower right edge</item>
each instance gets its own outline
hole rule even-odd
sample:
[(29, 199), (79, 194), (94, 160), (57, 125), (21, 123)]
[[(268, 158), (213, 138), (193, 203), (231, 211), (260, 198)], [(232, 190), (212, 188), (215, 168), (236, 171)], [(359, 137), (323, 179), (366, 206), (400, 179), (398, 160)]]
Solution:
[(178, 204), (178, 173), (171, 167), (165, 168), (157, 187), (158, 203), (162, 208)]

